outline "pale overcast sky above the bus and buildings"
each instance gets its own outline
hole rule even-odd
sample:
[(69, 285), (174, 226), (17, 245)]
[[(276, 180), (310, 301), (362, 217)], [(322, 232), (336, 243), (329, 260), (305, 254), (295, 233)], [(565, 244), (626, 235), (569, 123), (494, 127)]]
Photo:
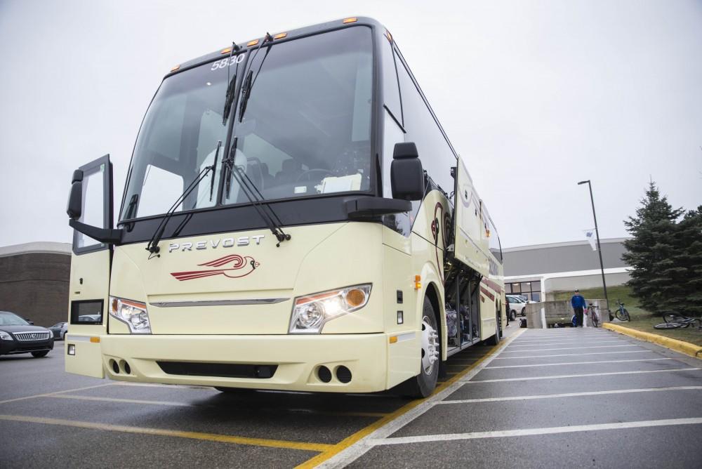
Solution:
[(602, 237), (626, 234), (649, 177), (702, 204), (699, 0), (0, 0), (0, 246), (69, 242), (72, 171), (106, 153), (119, 204), (173, 65), (353, 15), (392, 32), (503, 247), (584, 239), (583, 179)]

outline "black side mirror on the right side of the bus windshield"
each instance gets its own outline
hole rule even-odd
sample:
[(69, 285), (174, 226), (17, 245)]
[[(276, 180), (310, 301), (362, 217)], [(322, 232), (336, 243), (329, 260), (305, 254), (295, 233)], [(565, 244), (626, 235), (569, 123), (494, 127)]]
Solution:
[(424, 170), (414, 143), (395, 144), (390, 165), (390, 185), (393, 199), (423, 199)]

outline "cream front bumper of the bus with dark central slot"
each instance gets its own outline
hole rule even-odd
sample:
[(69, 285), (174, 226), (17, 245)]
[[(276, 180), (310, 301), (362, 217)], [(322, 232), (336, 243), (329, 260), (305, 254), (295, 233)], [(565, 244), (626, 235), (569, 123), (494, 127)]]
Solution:
[[(411, 335), (414, 336), (413, 333)], [(107, 335), (100, 336), (100, 343), (86, 345), (93, 345), (93, 353), (98, 352), (95, 346), (99, 347), (102, 369), (107, 376), (118, 381), (270, 390), (375, 392), (387, 389), (390, 384), (388, 354), (392, 352), (392, 355), (396, 355), (397, 350), (400, 355), (407, 355), (407, 350), (389, 350), (400, 344), (390, 344), (388, 338), (385, 333), (319, 336)], [(412, 343), (406, 341), (406, 346), (410, 347)], [(402, 346), (404, 348), (404, 343)], [(67, 356), (67, 366), (69, 360), (79, 359), (79, 355), (81, 350), (77, 348), (76, 356)], [(274, 365), (277, 368), (270, 378), (190, 376), (168, 374), (158, 362), (186, 362), (202, 366), (215, 364), (215, 367), (218, 364)], [(397, 364), (402, 368), (408, 366), (404, 363), (406, 360), (402, 362)], [(390, 363), (395, 364), (395, 359)], [(331, 371), (332, 377), (328, 383), (319, 378), (320, 366), (326, 366)], [(347, 383), (336, 376), (341, 366), (351, 372)]]

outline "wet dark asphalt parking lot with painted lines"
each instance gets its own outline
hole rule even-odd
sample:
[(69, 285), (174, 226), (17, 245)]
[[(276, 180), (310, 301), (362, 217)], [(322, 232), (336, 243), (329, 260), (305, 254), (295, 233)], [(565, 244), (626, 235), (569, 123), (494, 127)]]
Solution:
[(0, 357), (6, 468), (702, 467), (702, 362), (603, 329), (507, 329), (429, 399), (134, 385)]

